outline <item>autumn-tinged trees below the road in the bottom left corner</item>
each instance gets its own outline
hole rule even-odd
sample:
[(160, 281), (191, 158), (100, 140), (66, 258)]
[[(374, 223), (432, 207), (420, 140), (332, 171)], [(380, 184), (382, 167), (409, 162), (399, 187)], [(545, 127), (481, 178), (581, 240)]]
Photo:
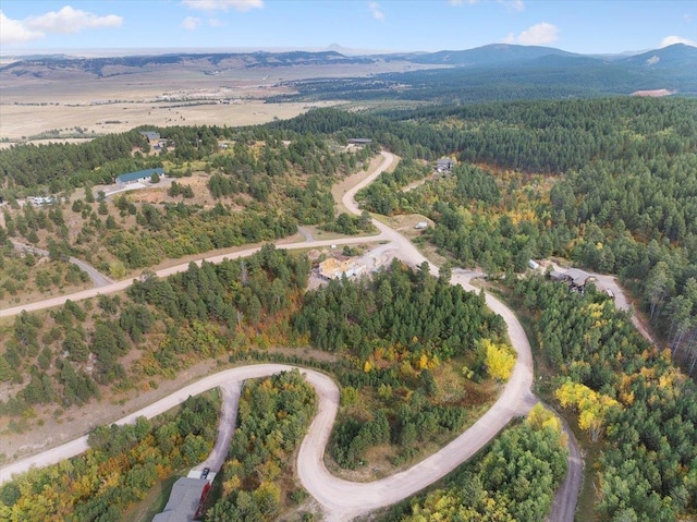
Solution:
[(118, 522), (134, 502), (175, 470), (204, 460), (216, 436), (217, 404), (188, 398), (180, 420), (99, 426), (90, 449), (73, 459), (32, 469), (0, 487), (0, 520)]

